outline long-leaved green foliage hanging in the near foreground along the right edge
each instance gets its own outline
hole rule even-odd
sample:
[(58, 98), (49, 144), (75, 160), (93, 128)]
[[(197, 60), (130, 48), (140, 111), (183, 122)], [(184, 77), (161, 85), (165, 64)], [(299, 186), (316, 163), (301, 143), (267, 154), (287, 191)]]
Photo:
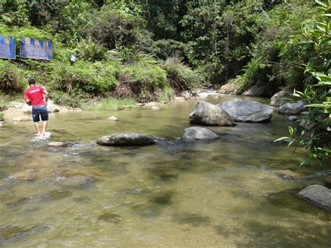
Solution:
[(307, 149), (308, 157), (301, 165), (316, 160), (323, 166), (323, 159), (330, 159), (331, 154), (331, 1), (316, 3), (322, 13), (313, 26), (305, 29), (300, 43), (304, 51), (309, 51), (311, 57), (306, 71), (314, 78), (308, 78), (304, 92), (293, 94), (296, 99), (307, 102), (309, 114), (302, 117), (302, 122), (309, 128), (301, 131), (289, 126), (288, 138), (291, 140), (289, 145), (303, 145)]

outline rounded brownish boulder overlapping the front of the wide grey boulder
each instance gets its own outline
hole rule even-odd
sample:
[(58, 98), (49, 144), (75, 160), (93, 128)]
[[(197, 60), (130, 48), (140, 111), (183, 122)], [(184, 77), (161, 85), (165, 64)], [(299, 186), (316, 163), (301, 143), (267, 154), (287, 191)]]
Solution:
[(226, 111), (205, 101), (198, 101), (189, 119), (191, 124), (204, 126), (235, 126), (235, 120)]

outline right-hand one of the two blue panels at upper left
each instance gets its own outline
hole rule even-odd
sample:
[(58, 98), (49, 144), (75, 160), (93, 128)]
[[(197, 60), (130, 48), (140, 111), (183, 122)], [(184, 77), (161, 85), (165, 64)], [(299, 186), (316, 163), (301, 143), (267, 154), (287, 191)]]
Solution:
[(29, 59), (53, 59), (52, 41), (35, 38), (22, 38), (20, 42), (20, 57)]

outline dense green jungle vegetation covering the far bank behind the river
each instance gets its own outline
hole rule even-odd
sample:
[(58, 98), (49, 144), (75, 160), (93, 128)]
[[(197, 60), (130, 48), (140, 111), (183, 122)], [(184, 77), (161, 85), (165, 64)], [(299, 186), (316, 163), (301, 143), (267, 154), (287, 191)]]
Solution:
[(81, 106), (165, 100), (229, 80), (241, 90), (263, 85), (264, 96), (302, 89), (304, 64), (314, 55), (323, 63), (301, 37), (318, 13), (301, 0), (3, 0), (0, 34), (51, 39), (54, 60), (2, 59), (0, 90), (21, 93), (32, 77), (57, 103)]

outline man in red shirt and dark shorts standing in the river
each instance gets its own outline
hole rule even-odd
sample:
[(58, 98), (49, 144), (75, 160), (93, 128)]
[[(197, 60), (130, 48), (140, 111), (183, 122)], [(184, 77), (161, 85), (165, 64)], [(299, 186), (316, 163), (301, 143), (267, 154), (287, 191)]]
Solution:
[[(45, 95), (45, 100), (44, 100)], [(34, 136), (45, 136), (47, 121), (48, 121), (48, 111), (47, 111), (47, 100), (48, 92), (38, 85), (36, 85), (36, 80), (29, 80), (29, 88), (24, 92), (24, 99), (28, 105), (32, 105), (32, 118), (34, 119), (34, 127), (37, 133)], [(43, 131), (39, 126), (40, 118), (43, 121)]]

